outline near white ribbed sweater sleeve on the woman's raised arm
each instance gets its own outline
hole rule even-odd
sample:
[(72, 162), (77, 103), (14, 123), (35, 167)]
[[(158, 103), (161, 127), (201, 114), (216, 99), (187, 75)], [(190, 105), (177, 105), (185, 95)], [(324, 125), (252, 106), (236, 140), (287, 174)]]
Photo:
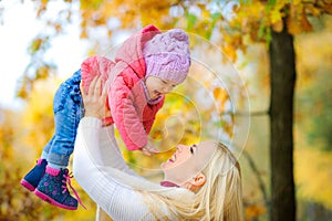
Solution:
[(103, 165), (100, 136), (102, 123), (81, 119), (73, 155), (73, 172), (84, 191), (114, 220), (151, 219), (139, 192), (113, 179), (114, 168)]

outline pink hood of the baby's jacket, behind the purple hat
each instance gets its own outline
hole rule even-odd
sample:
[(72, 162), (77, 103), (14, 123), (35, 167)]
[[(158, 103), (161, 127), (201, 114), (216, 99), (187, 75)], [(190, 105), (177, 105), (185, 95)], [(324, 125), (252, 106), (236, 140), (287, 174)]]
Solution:
[(152, 24), (143, 28), (121, 45), (115, 53), (115, 62), (125, 62), (139, 78), (144, 78), (146, 65), (142, 53), (143, 48), (147, 41), (159, 33), (160, 30)]

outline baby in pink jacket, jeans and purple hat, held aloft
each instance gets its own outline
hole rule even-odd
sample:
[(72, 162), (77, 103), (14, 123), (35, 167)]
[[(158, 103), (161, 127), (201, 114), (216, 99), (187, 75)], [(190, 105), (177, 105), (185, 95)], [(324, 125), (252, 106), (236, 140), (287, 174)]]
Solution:
[(114, 61), (103, 56), (86, 59), (58, 88), (53, 99), (54, 136), (21, 185), (56, 207), (77, 209), (80, 198), (74, 190), (76, 198), (68, 190), (66, 167), (84, 115), (81, 81), (87, 92), (93, 78), (100, 76), (102, 90), (107, 90), (105, 105), (111, 112), (111, 116), (104, 117), (104, 124), (116, 126), (128, 150), (151, 156), (157, 152), (148, 141), (156, 114), (164, 105), (165, 95), (186, 80), (189, 66), (188, 35), (180, 29), (162, 33), (154, 25), (129, 36)]

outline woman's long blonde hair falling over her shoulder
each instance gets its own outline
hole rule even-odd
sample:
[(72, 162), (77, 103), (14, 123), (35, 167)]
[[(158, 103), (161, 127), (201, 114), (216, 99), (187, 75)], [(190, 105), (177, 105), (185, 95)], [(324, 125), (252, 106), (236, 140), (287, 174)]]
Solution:
[[(206, 183), (195, 197), (142, 190), (155, 220), (242, 220), (240, 165), (224, 144), (216, 145), (216, 152), (201, 171), (206, 176)], [(160, 211), (160, 204), (167, 206), (172, 218)]]

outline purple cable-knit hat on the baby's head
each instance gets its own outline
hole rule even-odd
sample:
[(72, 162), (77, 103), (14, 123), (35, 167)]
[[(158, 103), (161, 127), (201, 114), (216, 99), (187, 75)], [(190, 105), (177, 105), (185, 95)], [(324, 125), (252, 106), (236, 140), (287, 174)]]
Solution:
[(180, 84), (186, 80), (190, 66), (188, 35), (180, 29), (156, 34), (144, 45), (143, 56), (145, 78), (157, 76)]

